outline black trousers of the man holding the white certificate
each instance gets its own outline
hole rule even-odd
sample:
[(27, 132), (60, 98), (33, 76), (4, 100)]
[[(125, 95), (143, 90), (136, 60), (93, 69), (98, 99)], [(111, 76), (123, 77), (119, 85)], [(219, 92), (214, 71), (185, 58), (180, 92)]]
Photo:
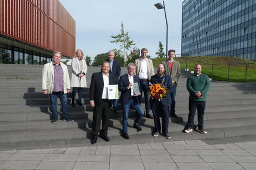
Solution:
[(111, 108), (111, 102), (109, 102), (108, 99), (104, 99), (102, 104), (99, 104), (99, 106), (95, 106), (93, 108), (92, 131), (94, 136), (98, 136), (99, 129), (101, 127), (101, 120), (102, 120), (101, 135), (106, 136), (108, 134), (110, 108)]

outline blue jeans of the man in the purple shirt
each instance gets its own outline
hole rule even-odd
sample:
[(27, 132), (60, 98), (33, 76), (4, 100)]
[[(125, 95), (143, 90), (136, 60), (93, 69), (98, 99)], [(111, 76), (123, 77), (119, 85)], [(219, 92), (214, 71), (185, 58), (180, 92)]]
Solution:
[(52, 92), (49, 94), (51, 100), (52, 107), (52, 116), (53, 119), (58, 119), (58, 111), (57, 111), (57, 99), (59, 96), (59, 100), (61, 100), (63, 118), (68, 118), (67, 116), (67, 95), (63, 92)]

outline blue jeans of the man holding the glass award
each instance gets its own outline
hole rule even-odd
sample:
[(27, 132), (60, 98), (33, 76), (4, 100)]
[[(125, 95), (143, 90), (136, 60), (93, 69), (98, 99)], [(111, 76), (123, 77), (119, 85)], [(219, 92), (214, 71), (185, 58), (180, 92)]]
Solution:
[(129, 103), (122, 104), (123, 107), (123, 133), (127, 133), (127, 126), (128, 126), (128, 116), (130, 107), (133, 107), (134, 110), (136, 110), (137, 117), (134, 121), (134, 125), (138, 125), (140, 123), (141, 118), (143, 117), (144, 111), (141, 108), (140, 103), (136, 102), (136, 99), (133, 99), (133, 97), (130, 99)]

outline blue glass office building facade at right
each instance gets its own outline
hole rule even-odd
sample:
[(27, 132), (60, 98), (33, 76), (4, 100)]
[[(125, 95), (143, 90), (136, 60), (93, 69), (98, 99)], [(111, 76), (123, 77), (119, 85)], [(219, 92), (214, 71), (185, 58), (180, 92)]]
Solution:
[(256, 60), (255, 0), (185, 0), (182, 55)]

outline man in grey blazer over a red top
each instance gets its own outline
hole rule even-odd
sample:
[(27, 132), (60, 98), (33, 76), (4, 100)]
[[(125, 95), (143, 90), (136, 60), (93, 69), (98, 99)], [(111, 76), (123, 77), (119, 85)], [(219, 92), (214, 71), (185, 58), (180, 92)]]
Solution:
[(170, 93), (170, 97), (172, 98), (172, 103), (170, 104), (170, 116), (177, 118), (178, 116), (175, 113), (175, 96), (177, 89), (177, 82), (180, 77), (180, 63), (173, 60), (175, 57), (175, 50), (170, 49), (168, 52), (169, 59), (165, 62), (162, 62), (165, 67), (165, 74), (170, 75), (172, 77), (173, 89)]

